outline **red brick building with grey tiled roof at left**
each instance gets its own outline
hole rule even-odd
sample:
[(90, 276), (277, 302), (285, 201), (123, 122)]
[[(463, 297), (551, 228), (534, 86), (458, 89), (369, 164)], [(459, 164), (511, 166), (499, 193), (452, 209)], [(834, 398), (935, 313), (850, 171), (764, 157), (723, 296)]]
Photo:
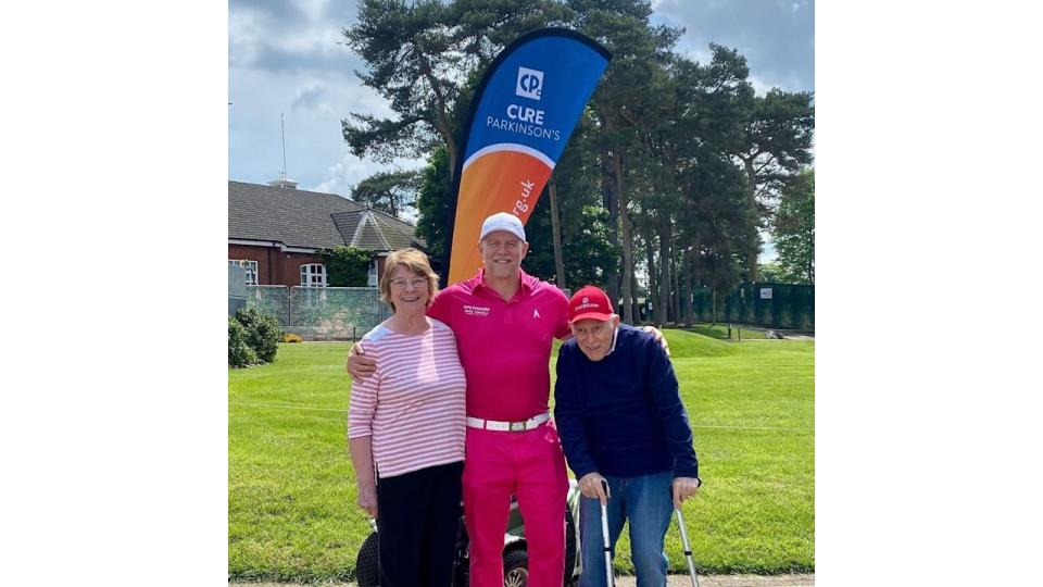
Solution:
[(285, 179), (228, 182), (228, 262), (247, 270), (248, 285), (326, 287), (316, 251), (343, 245), (375, 253), (373, 286), (389, 252), (424, 247), (411, 224), (335, 193), (297, 189)]

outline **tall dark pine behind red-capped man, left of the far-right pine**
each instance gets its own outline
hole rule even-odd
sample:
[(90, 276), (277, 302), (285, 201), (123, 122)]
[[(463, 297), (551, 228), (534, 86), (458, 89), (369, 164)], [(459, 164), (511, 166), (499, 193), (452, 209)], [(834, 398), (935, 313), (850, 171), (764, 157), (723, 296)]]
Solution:
[[(658, 248), (658, 275), (651, 289), (659, 324), (679, 323), (681, 316), (691, 323), (699, 250), (719, 251), (714, 271), (730, 275), (730, 264), (738, 261), (733, 251), (742, 248), (734, 240), (755, 234), (741, 191), (743, 178), (727, 157), (728, 139), (740, 129), (738, 104), (753, 89), (737, 53), (715, 45), (711, 50), (706, 65), (679, 55), (663, 63), (649, 88), (658, 100), (641, 116), (638, 152), (643, 153), (640, 164), (649, 189), (640, 196), (646, 217), (639, 224)], [(651, 252), (649, 257), (651, 267)]]

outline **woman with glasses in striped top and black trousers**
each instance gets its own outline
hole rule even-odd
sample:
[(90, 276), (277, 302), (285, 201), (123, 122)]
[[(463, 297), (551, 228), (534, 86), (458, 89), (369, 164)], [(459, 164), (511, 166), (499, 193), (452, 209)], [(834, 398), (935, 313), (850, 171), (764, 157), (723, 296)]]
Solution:
[(359, 341), (379, 361), (352, 385), (348, 442), (359, 507), (377, 519), (384, 587), (453, 578), (466, 380), (453, 332), (425, 315), (437, 287), (423, 252), (392, 252), (380, 299), (394, 313)]

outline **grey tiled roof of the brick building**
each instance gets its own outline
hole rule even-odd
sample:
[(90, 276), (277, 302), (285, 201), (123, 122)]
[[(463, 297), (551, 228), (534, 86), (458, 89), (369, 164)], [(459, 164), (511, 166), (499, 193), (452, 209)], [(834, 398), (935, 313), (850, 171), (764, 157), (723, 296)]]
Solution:
[(414, 245), (413, 226), (336, 193), (228, 182), (228, 238), (287, 247), (350, 245), (388, 251)]

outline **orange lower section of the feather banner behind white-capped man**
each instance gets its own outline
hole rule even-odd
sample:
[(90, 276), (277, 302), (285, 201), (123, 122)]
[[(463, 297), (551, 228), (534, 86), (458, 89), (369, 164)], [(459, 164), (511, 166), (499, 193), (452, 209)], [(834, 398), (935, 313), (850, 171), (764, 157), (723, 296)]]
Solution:
[(552, 171), (530, 154), (507, 150), (487, 153), (464, 170), (456, 201), (450, 285), (474, 277), (481, 267), (478, 235), (482, 221), (497, 212), (511, 212), (525, 224)]

